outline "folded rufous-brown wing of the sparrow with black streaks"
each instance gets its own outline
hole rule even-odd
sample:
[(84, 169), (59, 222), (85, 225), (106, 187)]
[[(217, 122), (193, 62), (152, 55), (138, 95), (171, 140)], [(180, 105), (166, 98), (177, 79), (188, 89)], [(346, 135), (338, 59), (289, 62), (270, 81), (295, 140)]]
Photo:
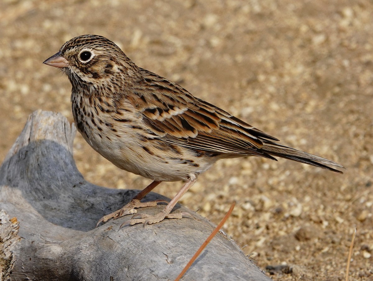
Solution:
[(141, 72), (145, 84), (128, 98), (142, 112), (147, 127), (164, 141), (196, 150), (263, 156), (258, 152), (263, 138), (277, 140), (179, 85), (144, 69)]

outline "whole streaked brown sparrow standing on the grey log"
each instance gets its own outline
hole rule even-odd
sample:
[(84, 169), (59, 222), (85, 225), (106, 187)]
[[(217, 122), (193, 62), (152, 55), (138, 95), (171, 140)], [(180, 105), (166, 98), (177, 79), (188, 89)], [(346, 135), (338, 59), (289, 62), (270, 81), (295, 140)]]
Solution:
[[(152, 180), (128, 204), (103, 216), (96, 227), (129, 214), (134, 215), (120, 227), (191, 217), (171, 211), (198, 175), (224, 158), (282, 157), (343, 174), (342, 165), (279, 144), (278, 138), (138, 67), (105, 37), (72, 38), (44, 64), (68, 76), (73, 118), (87, 143), (120, 169)], [(141, 202), (162, 181), (185, 183), (161, 212), (137, 213), (138, 208), (165, 202)]]

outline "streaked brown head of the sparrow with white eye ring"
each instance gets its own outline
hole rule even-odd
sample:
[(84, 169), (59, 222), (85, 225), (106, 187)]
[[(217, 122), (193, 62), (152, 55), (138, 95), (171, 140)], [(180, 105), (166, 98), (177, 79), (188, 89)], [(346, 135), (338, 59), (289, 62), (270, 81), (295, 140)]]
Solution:
[(102, 87), (140, 79), (138, 67), (112, 41), (99, 35), (81, 35), (62, 45), (44, 61), (65, 72), (73, 87)]

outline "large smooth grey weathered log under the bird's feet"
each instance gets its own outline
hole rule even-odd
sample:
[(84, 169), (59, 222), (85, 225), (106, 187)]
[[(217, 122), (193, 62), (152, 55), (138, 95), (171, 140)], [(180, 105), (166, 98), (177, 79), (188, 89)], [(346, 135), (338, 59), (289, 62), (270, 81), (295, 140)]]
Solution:
[[(18, 219), (22, 237), (12, 280), (175, 279), (213, 225), (193, 213), (196, 219), (166, 219), (145, 228), (119, 229), (130, 216), (94, 228), (137, 191), (85, 181), (72, 157), (74, 136), (75, 127), (62, 115), (34, 112), (0, 168), (0, 209)], [(160, 198), (151, 193), (146, 199)], [(270, 279), (219, 233), (182, 280)]]

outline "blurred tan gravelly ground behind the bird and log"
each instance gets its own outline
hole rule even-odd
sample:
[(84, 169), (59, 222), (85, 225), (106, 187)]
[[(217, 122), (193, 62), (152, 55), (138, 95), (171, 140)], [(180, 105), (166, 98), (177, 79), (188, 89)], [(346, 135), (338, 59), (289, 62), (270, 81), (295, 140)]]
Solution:
[[(221, 160), (182, 203), (217, 223), (273, 280), (373, 280), (373, 3), (369, 0), (0, 2), (0, 159), (37, 109), (70, 121), (70, 83), (42, 62), (72, 37), (103, 35), (137, 65), (278, 137), (344, 165)], [(80, 135), (85, 178), (145, 187)], [(156, 192), (172, 197), (181, 182)], [(21, 224), (22, 227), (22, 224)], [(283, 266), (282, 270), (279, 265)]]

